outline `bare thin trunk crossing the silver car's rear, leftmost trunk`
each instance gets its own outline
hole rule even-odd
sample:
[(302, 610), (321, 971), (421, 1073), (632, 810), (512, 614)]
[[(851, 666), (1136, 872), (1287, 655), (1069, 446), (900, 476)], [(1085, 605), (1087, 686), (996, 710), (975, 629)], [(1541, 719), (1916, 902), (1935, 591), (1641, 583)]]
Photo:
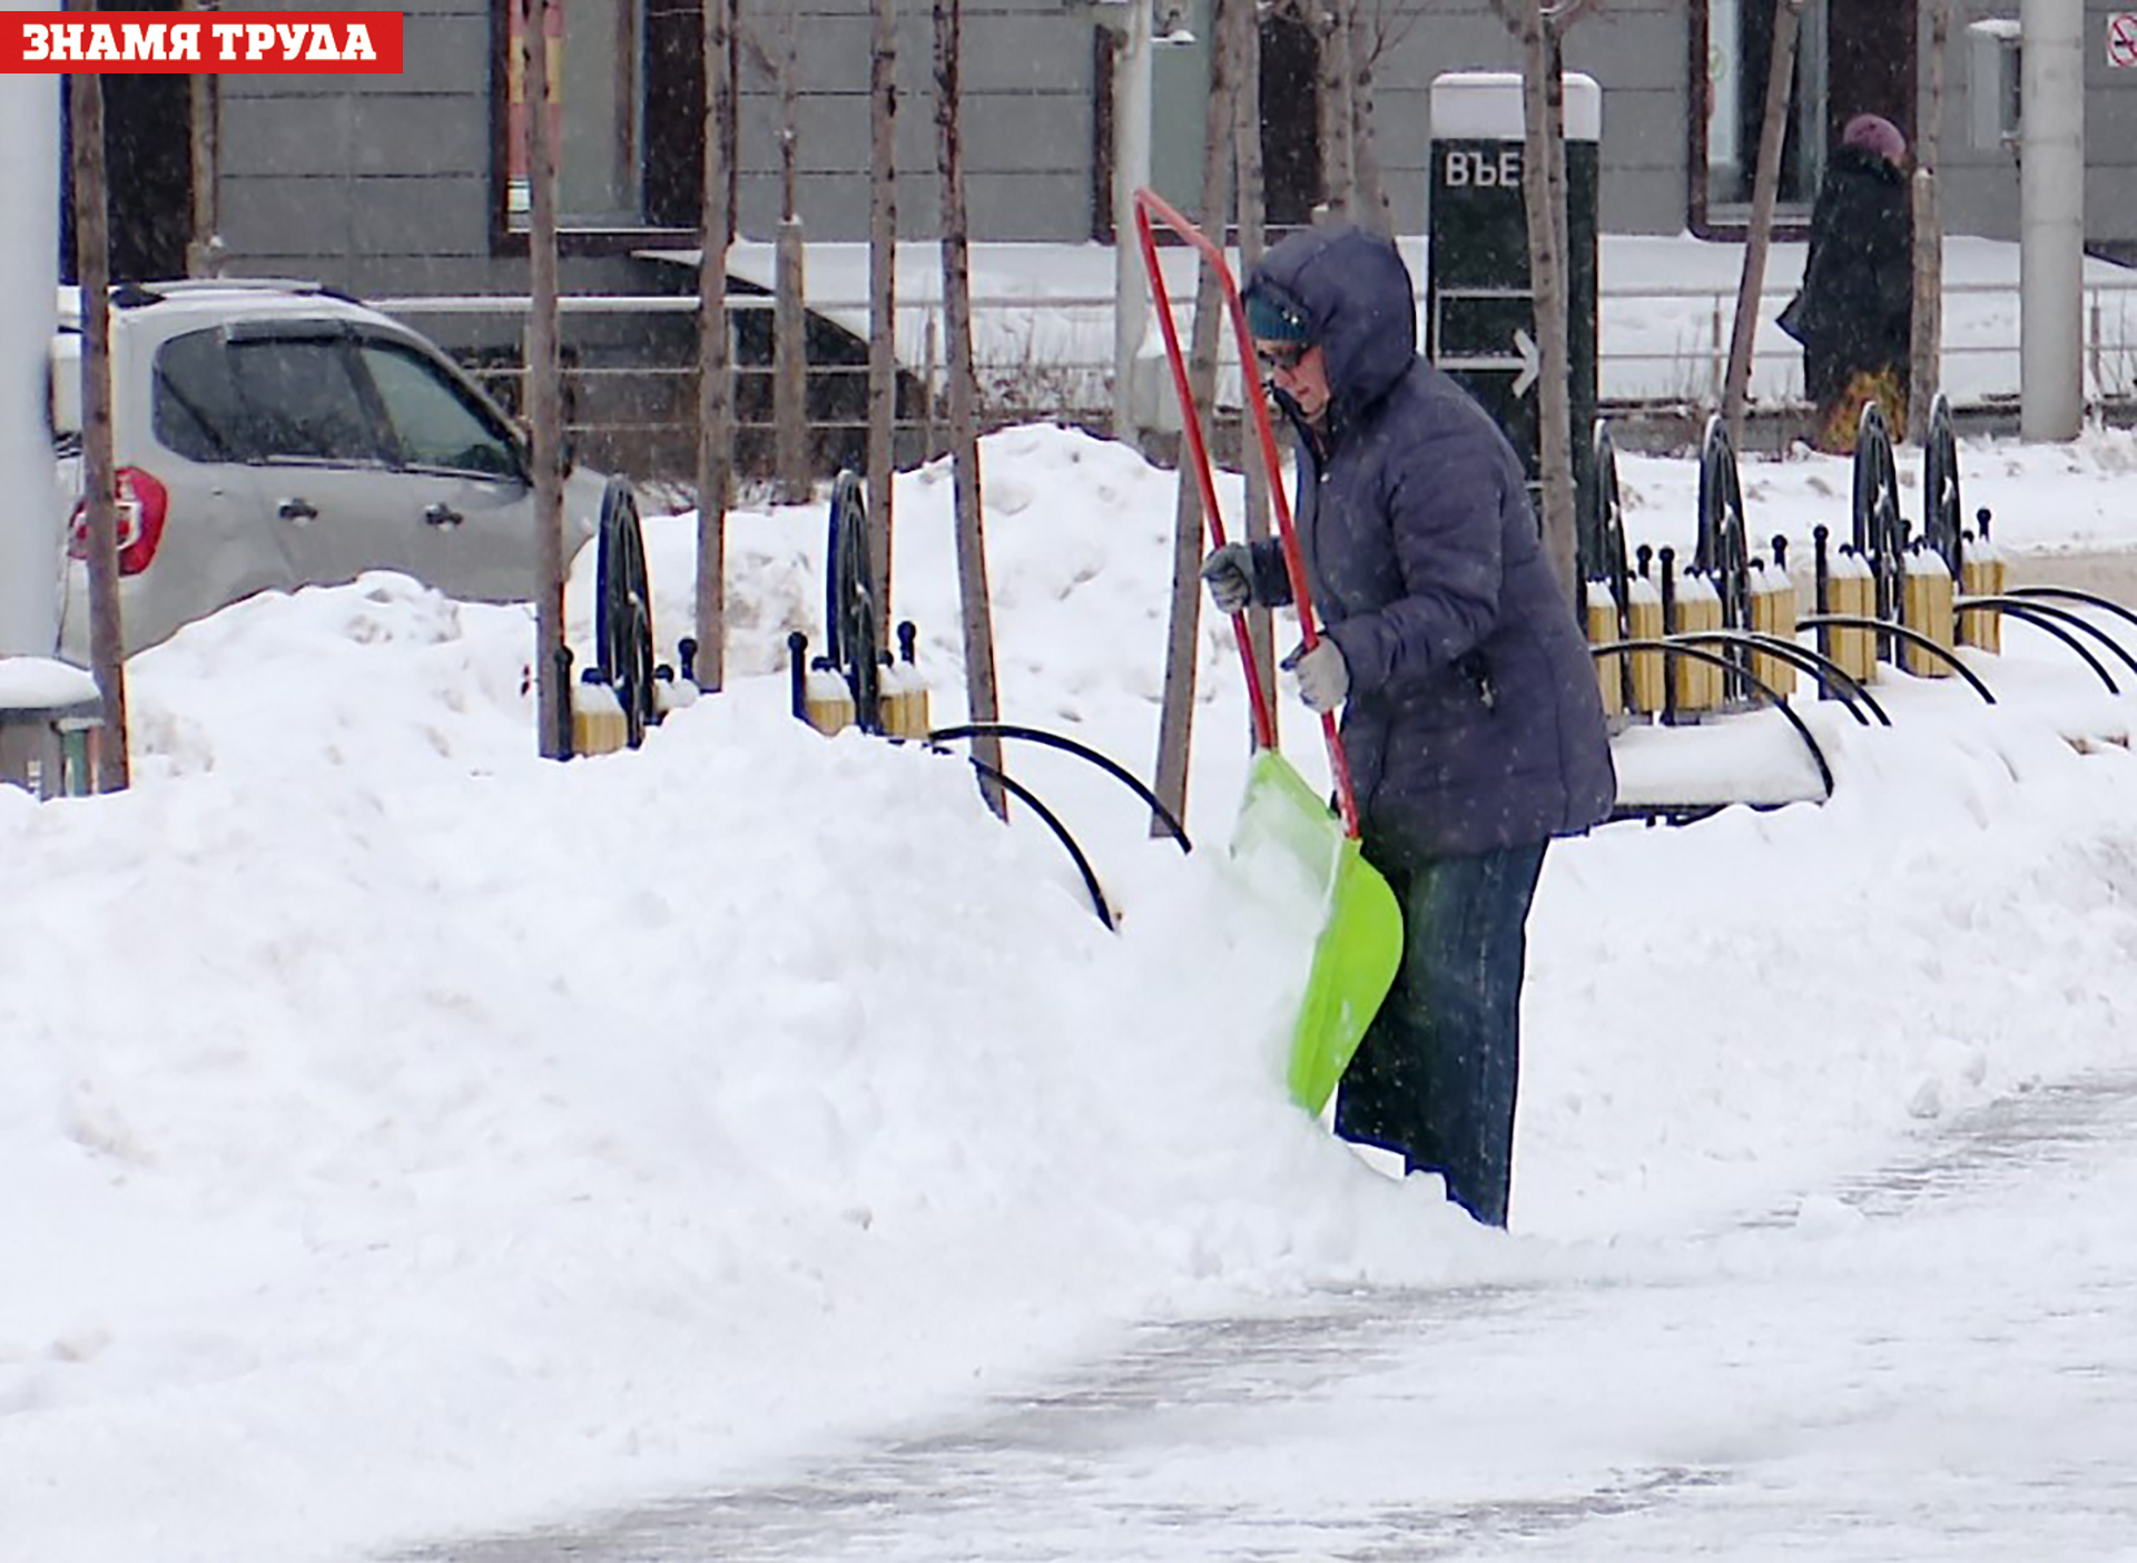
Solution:
[[(73, 11), (92, 11), (73, 0)], [(126, 738), (126, 633), (120, 620), (118, 466), (111, 453), (111, 216), (105, 197), (105, 79), (66, 81), (75, 175), (75, 278), (81, 287), (81, 505), (90, 528), (90, 671), (105, 701), (96, 791), (130, 780)]]

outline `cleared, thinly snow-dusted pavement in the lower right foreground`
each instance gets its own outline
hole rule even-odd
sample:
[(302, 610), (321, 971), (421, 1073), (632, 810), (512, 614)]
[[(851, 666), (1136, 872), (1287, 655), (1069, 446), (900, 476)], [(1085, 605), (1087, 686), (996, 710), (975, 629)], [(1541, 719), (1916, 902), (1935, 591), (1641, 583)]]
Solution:
[(1733, 1229), (1150, 1324), (767, 1482), (406, 1563), (2128, 1557), (2133, 1127), (2133, 1073), (2034, 1088)]

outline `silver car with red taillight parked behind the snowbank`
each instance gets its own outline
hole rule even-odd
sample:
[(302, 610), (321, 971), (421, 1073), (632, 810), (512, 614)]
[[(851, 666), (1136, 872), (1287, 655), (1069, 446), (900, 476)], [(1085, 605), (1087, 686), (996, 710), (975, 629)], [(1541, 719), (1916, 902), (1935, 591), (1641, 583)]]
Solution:
[[(79, 496), (79, 297), (62, 289), (53, 430)], [(126, 650), (261, 590), (404, 571), (449, 597), (526, 601), (539, 550), (511, 419), (432, 342), (299, 282), (113, 289)], [(594, 535), (603, 477), (564, 485), (564, 558)], [(88, 661), (77, 507), (60, 652)]]

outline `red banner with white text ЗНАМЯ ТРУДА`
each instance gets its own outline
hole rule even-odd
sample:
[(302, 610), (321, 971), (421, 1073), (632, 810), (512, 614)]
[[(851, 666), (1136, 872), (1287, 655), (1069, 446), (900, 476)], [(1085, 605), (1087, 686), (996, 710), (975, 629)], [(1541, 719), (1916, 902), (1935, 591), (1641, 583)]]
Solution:
[(0, 11), (0, 75), (400, 75), (400, 11)]

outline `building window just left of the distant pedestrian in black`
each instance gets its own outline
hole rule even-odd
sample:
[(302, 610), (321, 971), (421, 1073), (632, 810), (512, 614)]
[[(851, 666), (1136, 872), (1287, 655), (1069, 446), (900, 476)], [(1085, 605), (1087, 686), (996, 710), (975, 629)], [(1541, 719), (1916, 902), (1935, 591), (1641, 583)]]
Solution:
[[(1774, 0), (1693, 4), (1693, 231), (1742, 237), (1750, 220), (1774, 62)], [(1825, 169), (1825, 0), (1804, 6), (1795, 45), (1795, 94), (1780, 152), (1778, 227), (1801, 227)]]

